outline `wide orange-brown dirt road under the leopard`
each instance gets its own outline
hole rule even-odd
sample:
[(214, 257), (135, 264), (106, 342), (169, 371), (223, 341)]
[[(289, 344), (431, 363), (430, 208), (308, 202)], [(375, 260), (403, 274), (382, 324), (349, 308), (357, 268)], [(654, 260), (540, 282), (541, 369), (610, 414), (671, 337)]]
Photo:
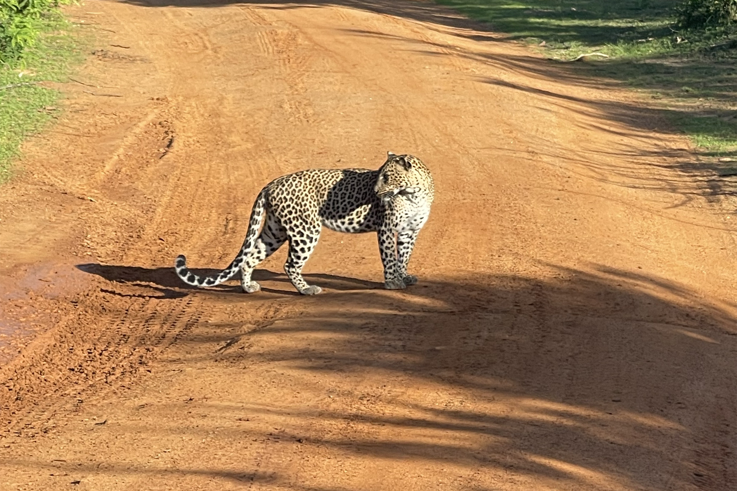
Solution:
[[(638, 95), (420, 1), (69, 12), (94, 53), (0, 191), (1, 490), (737, 489), (734, 200)], [(417, 286), (374, 234), (316, 297), (284, 250), (173, 275), (387, 150), (436, 179)]]

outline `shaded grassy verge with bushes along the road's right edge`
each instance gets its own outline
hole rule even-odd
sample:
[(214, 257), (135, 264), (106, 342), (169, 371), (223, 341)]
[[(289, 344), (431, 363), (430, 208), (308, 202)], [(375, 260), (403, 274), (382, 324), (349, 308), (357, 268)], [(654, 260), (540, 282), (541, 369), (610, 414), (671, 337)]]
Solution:
[(570, 71), (652, 96), (705, 155), (737, 155), (737, 0), (437, 0)]

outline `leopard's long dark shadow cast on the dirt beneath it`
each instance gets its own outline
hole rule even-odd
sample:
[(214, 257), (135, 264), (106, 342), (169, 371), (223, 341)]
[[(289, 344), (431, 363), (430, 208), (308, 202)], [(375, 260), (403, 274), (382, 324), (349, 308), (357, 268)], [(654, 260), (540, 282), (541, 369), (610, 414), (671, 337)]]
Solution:
[[(174, 272), (173, 267), (162, 268), (144, 268), (140, 266), (117, 266), (111, 264), (77, 264), (77, 269), (91, 275), (97, 275), (105, 280), (116, 283), (138, 283), (140, 286), (155, 285), (155, 289), (162, 292), (164, 297), (181, 297), (186, 295), (182, 290), (199, 290), (196, 286), (189, 286)], [(195, 275), (211, 276), (220, 272), (220, 269), (192, 269)], [(235, 278), (240, 278), (240, 274)], [(254, 270), (253, 278), (256, 281), (275, 281), (284, 283), (284, 289), (263, 288), (264, 292), (298, 295), (294, 290), (292, 283), (284, 273), (269, 271), (268, 269)], [(338, 275), (310, 274), (304, 275), (304, 278), (310, 284), (316, 284), (322, 288), (349, 291), (349, 290), (368, 290), (382, 289), (383, 283), (377, 283), (369, 280), (359, 280), (357, 278), (348, 278)], [(172, 290), (176, 289), (176, 290)], [(240, 285), (222, 284), (209, 287), (211, 291), (242, 293)]]

